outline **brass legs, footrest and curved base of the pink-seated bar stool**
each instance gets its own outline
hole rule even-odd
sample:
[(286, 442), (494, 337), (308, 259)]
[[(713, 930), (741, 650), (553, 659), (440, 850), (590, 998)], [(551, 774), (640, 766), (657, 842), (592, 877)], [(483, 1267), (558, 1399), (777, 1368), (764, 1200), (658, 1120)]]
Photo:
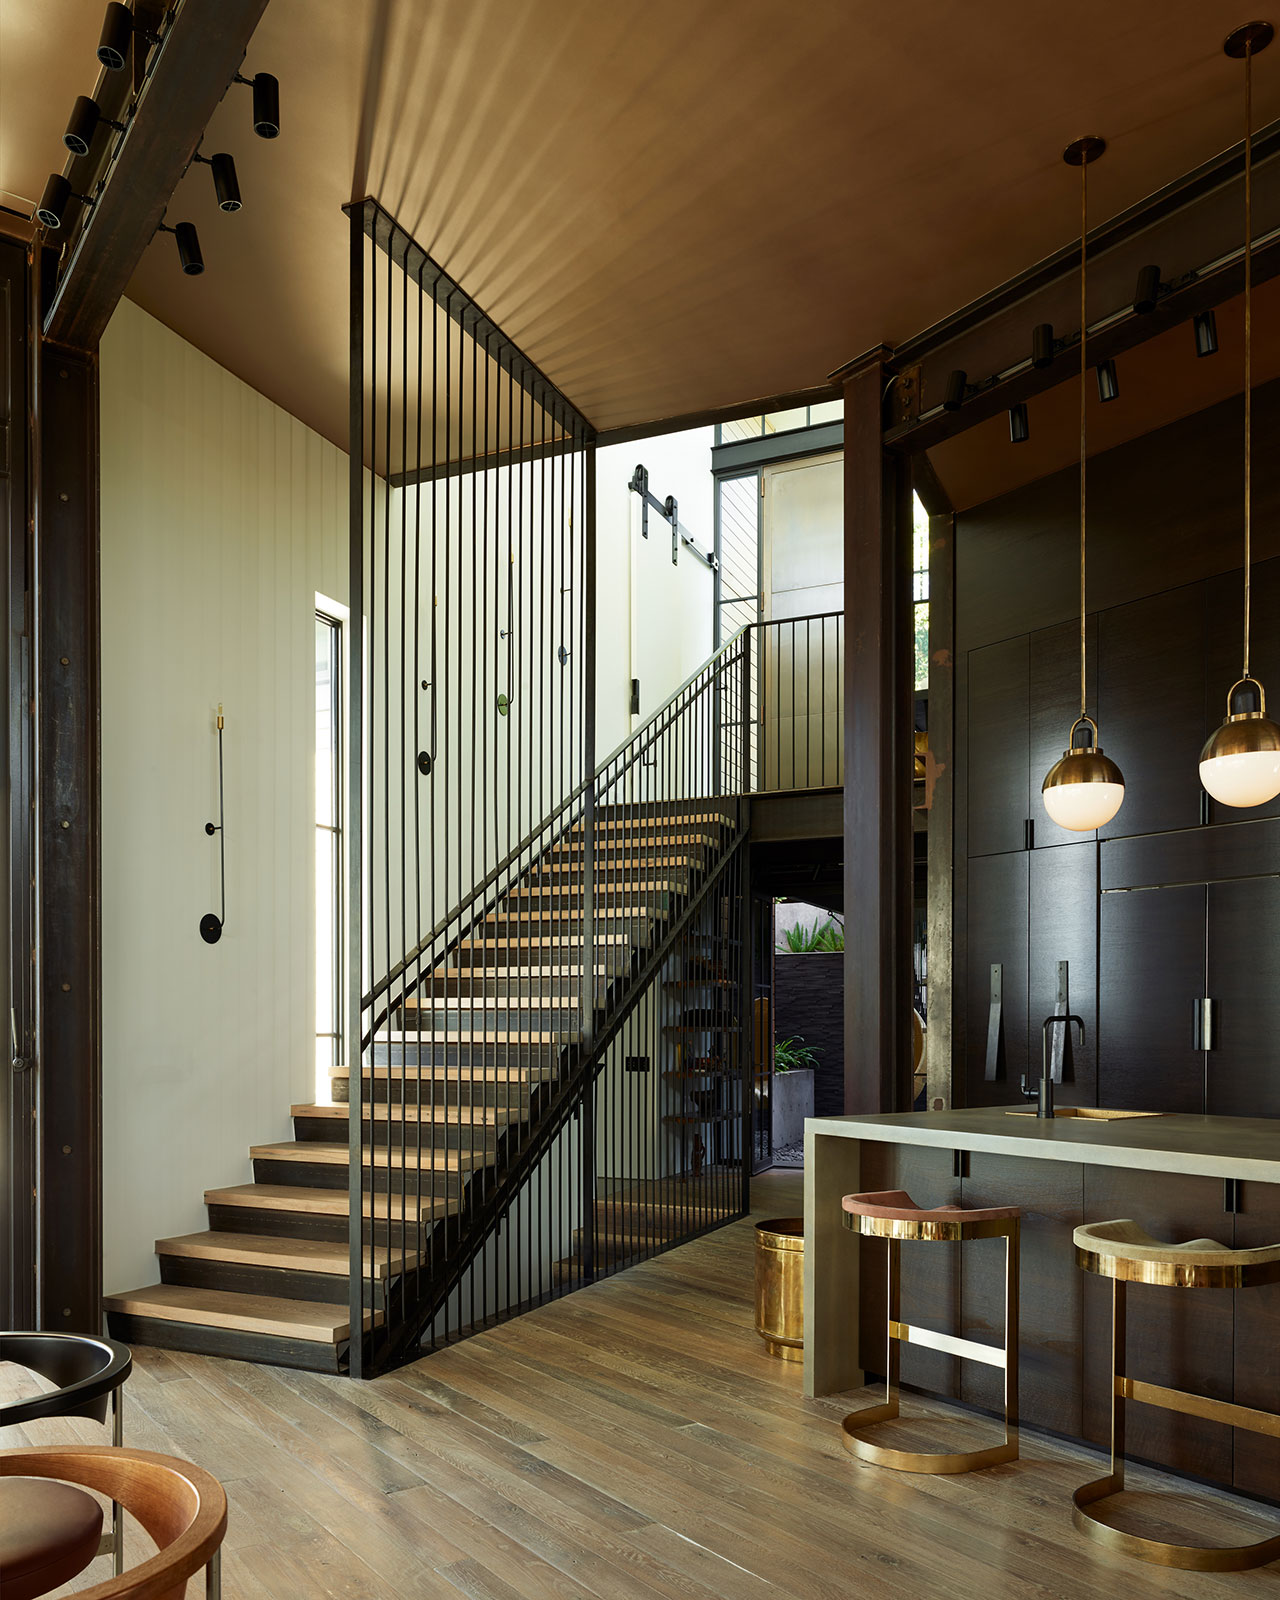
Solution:
[[(845, 1213), (846, 1226), (856, 1222), (885, 1222), (883, 1218), (854, 1218)], [(885, 1266), (888, 1275), (888, 1323), (885, 1328), (885, 1398), (877, 1405), (862, 1406), (840, 1424), (840, 1435), (845, 1450), (859, 1461), (869, 1461), (877, 1467), (890, 1467), (894, 1472), (979, 1472), (984, 1467), (998, 1467), (1006, 1461), (1018, 1459), (1018, 1282), (1019, 1282), (1019, 1218), (1008, 1218), (1000, 1222), (986, 1222), (986, 1229), (998, 1229), (1005, 1238), (1005, 1344), (994, 1350), (986, 1344), (973, 1344), (970, 1339), (957, 1339), (946, 1333), (933, 1333), (928, 1328), (914, 1328), (902, 1322), (902, 1240), (893, 1234), (882, 1234), (885, 1238)], [(856, 1229), (854, 1229), (856, 1230)], [(869, 1230), (872, 1232), (872, 1230)], [(925, 1238), (926, 1235), (910, 1235)], [(962, 1237), (962, 1235), (954, 1235)], [(990, 1232), (963, 1235), (970, 1238), (995, 1237)], [(925, 1450), (890, 1450), (886, 1445), (874, 1445), (862, 1437), (862, 1430), (877, 1422), (891, 1422), (899, 1416), (901, 1403), (901, 1347), (902, 1344), (923, 1344), (930, 1349), (946, 1350), (962, 1360), (979, 1360), (998, 1365), (1005, 1373), (1005, 1438), (998, 1445), (986, 1450), (960, 1451), (925, 1451)]]

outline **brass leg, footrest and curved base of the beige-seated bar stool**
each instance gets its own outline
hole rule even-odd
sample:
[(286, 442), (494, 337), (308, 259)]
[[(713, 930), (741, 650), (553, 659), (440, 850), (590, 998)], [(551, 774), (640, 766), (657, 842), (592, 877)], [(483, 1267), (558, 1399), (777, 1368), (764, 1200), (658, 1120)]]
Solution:
[(1187, 1416), (1206, 1416), (1235, 1427), (1280, 1437), (1280, 1416), (1131, 1379), (1125, 1371), (1126, 1294), (1128, 1282), (1122, 1277), (1112, 1278), (1110, 1472), (1104, 1478), (1082, 1483), (1075, 1490), (1070, 1498), (1072, 1522), (1094, 1544), (1101, 1544), (1117, 1555), (1131, 1555), (1139, 1562), (1149, 1562), (1154, 1566), (1176, 1566), (1190, 1573), (1243, 1573), (1254, 1566), (1266, 1566), (1267, 1562), (1280, 1557), (1280, 1533), (1253, 1544), (1170, 1544), (1165, 1539), (1147, 1539), (1142, 1534), (1114, 1528), (1093, 1510), (1094, 1506), (1101, 1507), (1125, 1488), (1125, 1403), (1128, 1400), (1160, 1406), (1166, 1411), (1181, 1411)]

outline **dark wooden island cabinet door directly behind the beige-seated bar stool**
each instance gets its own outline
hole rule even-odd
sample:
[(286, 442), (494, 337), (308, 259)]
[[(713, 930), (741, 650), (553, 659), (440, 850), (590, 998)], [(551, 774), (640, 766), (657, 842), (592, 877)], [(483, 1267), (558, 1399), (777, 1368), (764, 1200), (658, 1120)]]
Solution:
[[(1216, 1238), (1226, 1243), (1232, 1218), (1222, 1211), (1221, 1178), (1085, 1168), (1085, 1221), (1130, 1218), (1155, 1238)], [(1110, 1437), (1112, 1285), (1085, 1280), (1085, 1438)], [(1232, 1290), (1128, 1286), (1128, 1376), (1213, 1400), (1232, 1397)], [(1251, 1293), (1258, 1293), (1256, 1290)], [(1274, 1403), (1275, 1394), (1272, 1390)], [(1125, 1408), (1130, 1456), (1218, 1483), (1232, 1478), (1232, 1430), (1222, 1422), (1178, 1416), (1147, 1405)]]

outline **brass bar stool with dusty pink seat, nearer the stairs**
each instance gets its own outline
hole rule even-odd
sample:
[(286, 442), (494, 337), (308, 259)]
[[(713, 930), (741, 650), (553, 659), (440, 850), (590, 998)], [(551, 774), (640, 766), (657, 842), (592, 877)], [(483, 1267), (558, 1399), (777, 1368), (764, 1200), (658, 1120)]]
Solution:
[[(933, 1210), (918, 1206), (902, 1189), (882, 1194), (845, 1195), (845, 1227), (869, 1238), (883, 1238), (888, 1254), (888, 1350), (883, 1405), (862, 1406), (850, 1411), (840, 1424), (845, 1448), (862, 1461), (898, 1472), (974, 1472), (979, 1467), (998, 1467), (1018, 1459), (1018, 1206), (989, 1206), (965, 1210), (942, 1205)], [(901, 1320), (901, 1251), (902, 1240), (925, 1243), (958, 1243), (968, 1238), (1005, 1240), (1005, 1344), (1003, 1349), (978, 1344), (973, 1339), (957, 1339), (949, 1333), (933, 1333)], [(862, 1429), (875, 1422), (890, 1422), (899, 1414), (901, 1346), (923, 1344), (930, 1350), (958, 1355), (962, 1360), (984, 1362), (1000, 1366), (1005, 1373), (1005, 1440), (987, 1450), (920, 1451), (888, 1450), (862, 1438)]]

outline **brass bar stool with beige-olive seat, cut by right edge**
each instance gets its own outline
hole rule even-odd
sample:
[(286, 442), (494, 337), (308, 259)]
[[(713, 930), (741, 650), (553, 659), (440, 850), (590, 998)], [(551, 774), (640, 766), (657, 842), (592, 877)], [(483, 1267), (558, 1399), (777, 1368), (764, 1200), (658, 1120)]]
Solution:
[(1122, 1533), (1101, 1522), (1094, 1507), (1125, 1488), (1125, 1402), (1139, 1400), (1165, 1411), (1202, 1416), (1254, 1434), (1280, 1438), (1280, 1416), (1251, 1406), (1163, 1389), (1128, 1376), (1125, 1362), (1125, 1296), (1130, 1283), (1157, 1283), (1173, 1290), (1251, 1290), (1280, 1282), (1280, 1245), (1262, 1250), (1229, 1250), (1211, 1238), (1165, 1245), (1136, 1222), (1088, 1222), (1075, 1230), (1075, 1261), (1083, 1272), (1112, 1280), (1110, 1358), (1110, 1472), (1072, 1494), (1075, 1526), (1090, 1539), (1139, 1562), (1181, 1566), (1198, 1573), (1240, 1573), (1280, 1557), (1280, 1533), (1256, 1544), (1166, 1544), (1136, 1533)]

